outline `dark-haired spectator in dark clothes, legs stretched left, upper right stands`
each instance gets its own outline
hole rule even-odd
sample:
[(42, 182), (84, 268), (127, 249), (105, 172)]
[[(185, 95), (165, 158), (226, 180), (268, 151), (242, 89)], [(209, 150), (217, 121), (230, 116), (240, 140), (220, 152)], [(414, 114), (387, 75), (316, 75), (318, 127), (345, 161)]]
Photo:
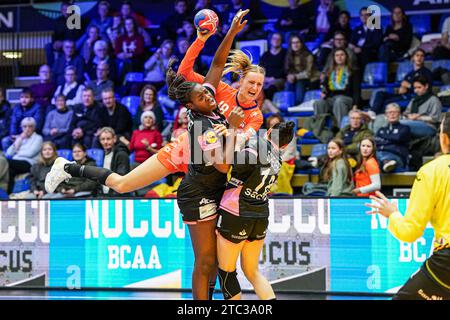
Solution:
[[(415, 78), (423, 76), (428, 80), (428, 83), (433, 83), (433, 73), (425, 67), (425, 51), (417, 49), (411, 60), (413, 62), (413, 70), (405, 76), (397, 93), (385, 91), (376, 92), (373, 104), (370, 107), (370, 111), (367, 113), (371, 119), (375, 119), (377, 114), (383, 113), (385, 105), (392, 102), (411, 99), (414, 92), (413, 81)], [(429, 89), (431, 90), (431, 86)]]

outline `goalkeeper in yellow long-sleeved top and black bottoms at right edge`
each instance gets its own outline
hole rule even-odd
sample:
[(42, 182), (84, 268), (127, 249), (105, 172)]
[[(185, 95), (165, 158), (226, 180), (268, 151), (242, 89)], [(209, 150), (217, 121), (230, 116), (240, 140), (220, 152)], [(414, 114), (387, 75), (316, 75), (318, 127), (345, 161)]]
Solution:
[(366, 204), (375, 209), (370, 213), (389, 219), (389, 231), (401, 241), (415, 241), (429, 222), (434, 229), (433, 254), (393, 299), (450, 300), (450, 112), (441, 123), (440, 143), (443, 155), (420, 168), (404, 216), (380, 192)]

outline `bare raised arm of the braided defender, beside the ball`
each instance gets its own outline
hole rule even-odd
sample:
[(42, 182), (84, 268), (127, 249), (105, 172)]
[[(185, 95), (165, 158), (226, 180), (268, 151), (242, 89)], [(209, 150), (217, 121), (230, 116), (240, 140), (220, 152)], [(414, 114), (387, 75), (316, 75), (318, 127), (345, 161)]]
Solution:
[[(230, 53), (231, 46), (233, 45), (234, 37), (244, 29), (247, 24), (247, 20), (242, 22), (244, 16), (250, 10), (239, 11), (233, 18), (233, 22), (231, 24), (230, 29), (228, 30), (225, 38), (222, 40), (219, 48), (214, 55), (214, 59), (209, 67), (208, 73), (206, 74), (204, 82), (211, 84), (214, 88), (219, 86), (220, 80), (222, 79), (223, 69), (225, 67), (225, 63), (227, 62), (228, 54)], [(198, 38), (202, 38), (204, 35), (197, 31)]]

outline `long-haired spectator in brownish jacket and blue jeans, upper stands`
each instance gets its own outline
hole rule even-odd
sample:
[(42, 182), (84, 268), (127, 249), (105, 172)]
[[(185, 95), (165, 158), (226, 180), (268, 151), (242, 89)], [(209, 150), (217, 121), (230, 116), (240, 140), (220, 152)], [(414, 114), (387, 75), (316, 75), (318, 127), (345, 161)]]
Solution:
[(314, 64), (314, 56), (297, 35), (291, 35), (285, 59), (285, 90), (295, 92), (295, 104), (301, 104), (310, 84), (319, 85), (320, 72)]

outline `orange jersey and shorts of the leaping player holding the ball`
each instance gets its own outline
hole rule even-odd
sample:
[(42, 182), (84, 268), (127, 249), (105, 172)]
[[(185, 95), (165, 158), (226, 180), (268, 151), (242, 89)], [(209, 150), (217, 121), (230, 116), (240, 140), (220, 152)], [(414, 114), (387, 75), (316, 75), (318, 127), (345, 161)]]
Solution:
[[(187, 81), (203, 83), (205, 77), (194, 72), (194, 63), (205, 43), (200, 39), (196, 39), (189, 47), (185, 57), (181, 61), (178, 68), (178, 74), (184, 76)], [(241, 106), (237, 100), (238, 90), (232, 88), (225, 82), (221, 81), (216, 90), (216, 101), (220, 112), (228, 119), (231, 111), (236, 106), (240, 106), (244, 111), (244, 119), (240, 125), (240, 129), (250, 137), (256, 133), (263, 123), (263, 115), (254, 103), (251, 106)], [(158, 151), (158, 160), (172, 173), (187, 173), (190, 150), (189, 150), (189, 133), (185, 132), (178, 137), (177, 140), (168, 143), (164, 148)]]

